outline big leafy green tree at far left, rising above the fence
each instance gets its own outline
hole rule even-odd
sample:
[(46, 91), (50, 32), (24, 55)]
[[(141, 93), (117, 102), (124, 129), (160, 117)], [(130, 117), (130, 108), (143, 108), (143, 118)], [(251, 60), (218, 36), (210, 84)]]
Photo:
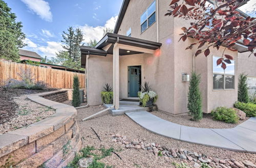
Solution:
[(16, 22), (16, 15), (11, 8), (0, 0), (0, 58), (18, 61), (18, 48), (24, 47), (25, 34), (22, 22)]

